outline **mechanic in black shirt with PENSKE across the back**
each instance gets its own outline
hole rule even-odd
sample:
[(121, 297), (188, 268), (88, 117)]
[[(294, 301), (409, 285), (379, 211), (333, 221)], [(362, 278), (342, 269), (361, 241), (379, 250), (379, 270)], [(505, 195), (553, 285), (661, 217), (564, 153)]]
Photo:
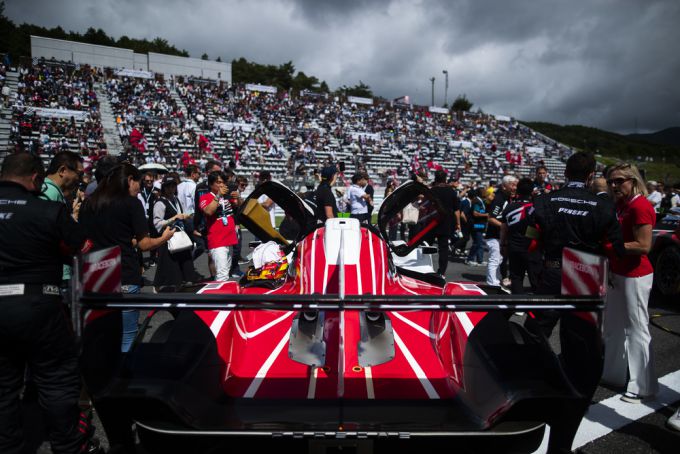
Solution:
[[(611, 247), (618, 256), (624, 251), (621, 227), (611, 200), (588, 190), (595, 174), (595, 159), (589, 153), (574, 153), (567, 160), (566, 184), (534, 200), (534, 222), (543, 244), (543, 271), (537, 294), (559, 295), (562, 284), (562, 249), (571, 247), (602, 254)], [(611, 243), (606, 245), (606, 243)], [(545, 342), (560, 319), (557, 311), (532, 313), (525, 327)], [(572, 386), (581, 398), (563, 405), (552, 415), (549, 452), (571, 452), (580, 418), (583, 417), (602, 375), (601, 333), (591, 323), (567, 313), (560, 322), (560, 358)]]

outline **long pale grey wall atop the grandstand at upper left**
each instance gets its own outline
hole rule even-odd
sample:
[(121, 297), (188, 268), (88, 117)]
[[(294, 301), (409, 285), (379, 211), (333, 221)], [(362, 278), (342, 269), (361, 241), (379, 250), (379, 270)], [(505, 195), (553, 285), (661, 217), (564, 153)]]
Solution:
[(54, 58), (75, 64), (103, 68), (134, 69), (162, 73), (166, 76), (193, 76), (231, 83), (231, 63), (177, 57), (174, 55), (135, 53), (131, 49), (85, 44), (31, 35), (33, 58)]

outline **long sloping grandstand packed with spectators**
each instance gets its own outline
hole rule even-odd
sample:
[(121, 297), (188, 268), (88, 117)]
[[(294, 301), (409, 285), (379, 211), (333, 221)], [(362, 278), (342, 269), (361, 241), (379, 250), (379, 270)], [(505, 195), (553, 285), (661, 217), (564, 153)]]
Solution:
[[(545, 165), (560, 180), (571, 150), (511, 118), (230, 85), (162, 75), (116, 75), (110, 68), (40, 61), (7, 70), (0, 145), (31, 150), (47, 163), (70, 149), (94, 161), (123, 154), (134, 164), (181, 170), (192, 160), (233, 161), (247, 176), (269, 170), (301, 186), (329, 162), (374, 186), (413, 171), (443, 168), (463, 183)], [(354, 101), (354, 102), (353, 102)]]

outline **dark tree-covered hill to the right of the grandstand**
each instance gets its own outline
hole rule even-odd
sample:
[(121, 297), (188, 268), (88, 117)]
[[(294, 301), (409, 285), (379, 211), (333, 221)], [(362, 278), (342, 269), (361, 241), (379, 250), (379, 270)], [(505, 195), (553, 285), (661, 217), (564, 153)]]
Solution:
[[(624, 136), (602, 129), (554, 123), (522, 124), (565, 145), (592, 151), (605, 164), (626, 161), (636, 164), (647, 179), (675, 183), (680, 181), (680, 146), (649, 142), (645, 136)], [(649, 136), (654, 137), (654, 134)]]

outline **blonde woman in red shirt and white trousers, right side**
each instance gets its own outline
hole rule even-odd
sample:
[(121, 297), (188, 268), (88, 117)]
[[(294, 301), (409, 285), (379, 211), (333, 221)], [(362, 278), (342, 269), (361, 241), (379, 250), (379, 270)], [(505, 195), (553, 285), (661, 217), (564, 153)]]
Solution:
[(628, 384), (621, 400), (639, 403), (656, 394), (647, 304), (654, 270), (647, 258), (652, 247), (654, 207), (647, 200), (645, 182), (630, 164), (612, 167), (607, 174), (626, 255), (611, 259), (612, 287), (604, 314), (605, 362), (602, 380)]

